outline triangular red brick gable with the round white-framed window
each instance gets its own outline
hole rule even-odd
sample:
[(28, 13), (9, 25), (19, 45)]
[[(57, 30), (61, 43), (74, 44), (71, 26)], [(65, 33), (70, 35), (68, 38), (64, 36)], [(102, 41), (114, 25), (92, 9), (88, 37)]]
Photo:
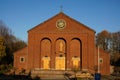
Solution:
[(95, 31), (86, 25), (74, 20), (63, 12), (55, 15), (47, 21), (40, 23), (28, 31), (28, 33), (86, 33)]

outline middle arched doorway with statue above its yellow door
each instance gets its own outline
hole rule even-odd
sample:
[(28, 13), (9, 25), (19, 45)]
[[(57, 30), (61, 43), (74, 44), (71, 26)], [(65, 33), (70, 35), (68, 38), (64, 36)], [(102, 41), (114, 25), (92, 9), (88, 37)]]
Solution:
[(65, 70), (66, 64), (66, 41), (62, 38), (56, 40), (55, 69)]

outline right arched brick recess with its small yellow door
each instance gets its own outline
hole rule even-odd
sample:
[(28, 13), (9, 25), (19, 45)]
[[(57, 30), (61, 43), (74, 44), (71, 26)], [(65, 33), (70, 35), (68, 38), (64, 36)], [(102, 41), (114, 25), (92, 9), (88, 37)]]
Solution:
[(72, 68), (82, 69), (82, 43), (78, 38), (70, 42), (70, 58)]

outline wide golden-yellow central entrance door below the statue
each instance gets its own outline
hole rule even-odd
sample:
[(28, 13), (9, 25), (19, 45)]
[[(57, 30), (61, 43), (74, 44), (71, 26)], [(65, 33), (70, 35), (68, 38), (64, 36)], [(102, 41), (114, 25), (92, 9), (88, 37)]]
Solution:
[(65, 57), (56, 57), (56, 70), (65, 70)]

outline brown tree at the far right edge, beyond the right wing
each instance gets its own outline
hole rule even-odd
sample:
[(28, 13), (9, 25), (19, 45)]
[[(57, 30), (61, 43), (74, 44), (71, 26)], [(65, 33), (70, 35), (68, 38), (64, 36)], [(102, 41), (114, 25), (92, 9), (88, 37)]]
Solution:
[(110, 55), (111, 64), (117, 66), (120, 63), (120, 31), (111, 33)]

